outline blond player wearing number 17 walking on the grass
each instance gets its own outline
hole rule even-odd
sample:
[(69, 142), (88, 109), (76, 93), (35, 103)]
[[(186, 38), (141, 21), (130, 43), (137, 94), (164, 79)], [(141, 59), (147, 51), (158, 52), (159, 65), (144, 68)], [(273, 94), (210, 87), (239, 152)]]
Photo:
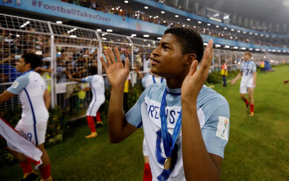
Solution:
[[(246, 109), (249, 109), (250, 103), (250, 113), (249, 116), (254, 116), (254, 88), (256, 87), (256, 64), (251, 60), (252, 54), (250, 52), (244, 53), (245, 61), (240, 65), (240, 72), (236, 78), (234, 78), (231, 84), (235, 84), (236, 81), (242, 76), (240, 84), (240, 95), (242, 100), (246, 103)], [(249, 100), (247, 100), (246, 95), (249, 94)]]

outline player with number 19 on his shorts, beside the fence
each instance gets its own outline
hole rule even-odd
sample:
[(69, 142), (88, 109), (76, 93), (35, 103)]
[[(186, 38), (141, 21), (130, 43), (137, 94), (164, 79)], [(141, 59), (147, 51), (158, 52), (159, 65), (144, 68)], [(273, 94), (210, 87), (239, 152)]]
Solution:
[[(42, 63), (40, 56), (34, 53), (25, 53), (16, 62), (16, 70), (21, 75), (13, 84), (0, 95), (0, 103), (10, 99), (16, 94), (19, 95), (22, 104), (21, 119), (15, 127), (21, 136), (31, 141), (43, 154), (41, 156), (42, 165), (39, 166), (41, 180), (52, 180), (50, 174), (50, 161), (44, 149), (47, 121), (49, 118), (48, 108), (50, 105), (50, 95), (42, 76), (34, 69)], [(22, 153), (14, 151), (8, 144), (8, 150), (19, 162), (23, 170), (22, 180), (34, 180), (36, 173), (31, 166), (31, 160)]]

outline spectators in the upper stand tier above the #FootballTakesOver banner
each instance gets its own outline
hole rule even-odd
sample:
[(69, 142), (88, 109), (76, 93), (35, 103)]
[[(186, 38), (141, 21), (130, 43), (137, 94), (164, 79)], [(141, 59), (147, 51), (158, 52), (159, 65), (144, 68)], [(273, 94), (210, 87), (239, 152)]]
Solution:
[[(289, 47), (289, 39), (284, 38), (278, 38), (278, 37), (260, 37), (255, 36), (254, 34), (249, 35), (249, 32), (247, 34), (244, 34), (242, 32), (237, 33), (232, 32), (231, 30), (221, 30), (221, 28), (218, 29), (212, 29), (206, 27), (201, 27), (197, 25), (188, 24), (188, 22), (180, 23), (180, 22), (172, 22), (165, 19), (161, 19), (158, 16), (152, 16), (149, 14), (146, 14), (142, 11), (133, 10), (132, 8), (120, 8), (118, 6), (108, 5), (107, 2), (104, 1), (95, 1), (95, 0), (62, 0), (63, 2), (73, 3), (76, 5), (85, 6), (87, 8), (92, 8), (97, 11), (103, 11), (106, 13), (111, 14), (117, 14), (119, 16), (123, 17), (123, 20), (125, 20), (126, 17), (138, 19), (141, 21), (147, 21), (150, 23), (160, 24), (164, 26), (188, 26), (191, 28), (194, 28), (197, 30), (200, 34), (205, 34), (212, 37), (219, 37), (224, 38), (228, 40), (236, 40), (241, 41), (245, 43), (253, 43), (253, 44), (259, 44), (259, 45), (266, 45), (266, 46), (279, 46), (279, 47)], [(172, 25), (171, 25), (172, 24)]]

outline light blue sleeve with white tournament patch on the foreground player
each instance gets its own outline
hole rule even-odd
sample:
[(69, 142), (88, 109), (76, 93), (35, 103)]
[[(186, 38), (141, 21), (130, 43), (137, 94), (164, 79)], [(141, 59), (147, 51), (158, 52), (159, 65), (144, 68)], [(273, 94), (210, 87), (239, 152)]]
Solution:
[[(218, 105), (216, 105), (218, 104)], [(214, 106), (218, 107), (201, 129), (207, 151), (224, 158), (224, 149), (228, 143), (230, 129), (230, 110), (228, 102), (223, 98)]]

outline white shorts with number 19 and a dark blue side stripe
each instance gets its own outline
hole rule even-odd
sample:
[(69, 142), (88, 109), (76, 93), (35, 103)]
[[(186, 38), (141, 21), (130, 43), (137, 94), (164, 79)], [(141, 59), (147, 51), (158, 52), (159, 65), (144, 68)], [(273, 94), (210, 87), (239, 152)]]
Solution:
[(34, 145), (39, 145), (45, 142), (47, 122), (36, 122), (36, 124), (23, 124), (22, 119), (17, 123), (15, 130), (19, 134), (31, 141)]

